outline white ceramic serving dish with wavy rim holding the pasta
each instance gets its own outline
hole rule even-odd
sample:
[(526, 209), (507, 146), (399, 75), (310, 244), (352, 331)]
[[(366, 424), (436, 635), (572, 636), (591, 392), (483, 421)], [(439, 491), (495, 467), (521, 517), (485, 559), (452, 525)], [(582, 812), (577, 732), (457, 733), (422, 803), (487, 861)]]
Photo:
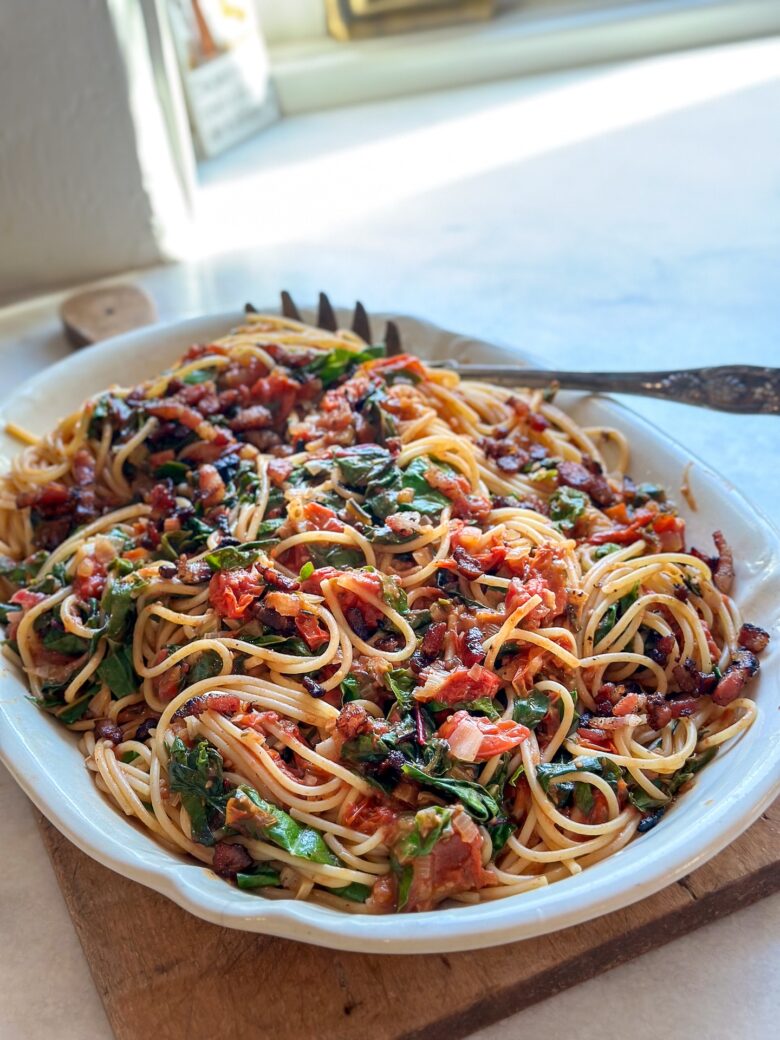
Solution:
[[(208, 342), (239, 319), (231, 312), (153, 327), (82, 350), (15, 391), (0, 419), (12, 418), (44, 433), (87, 394), (151, 376), (190, 343)], [(527, 362), (505, 348), (411, 318), (397, 320), (405, 345), (422, 357)], [(673, 493), (679, 487), (691, 456), (659, 430), (605, 398), (571, 398), (564, 405), (583, 425), (619, 426), (628, 435), (636, 479), (657, 479)], [(18, 445), (3, 438), (0, 456), (7, 458)], [(703, 463), (695, 464), (692, 483), (699, 502), (699, 512), (688, 516), (693, 542), (707, 546), (713, 528), (726, 532), (737, 561), (736, 596), (745, 616), (773, 635), (762, 657), (762, 677), (751, 690), (760, 713), (657, 828), (610, 859), (548, 888), (482, 906), (381, 917), (239, 891), (162, 849), (112, 808), (89, 778), (75, 740), (30, 703), (7, 665), (0, 667), (0, 755), (41, 811), (85, 853), (217, 925), (340, 950), (437, 953), (529, 938), (617, 910), (700, 866), (740, 834), (780, 788), (780, 600), (772, 593), (780, 571), (780, 535)]]

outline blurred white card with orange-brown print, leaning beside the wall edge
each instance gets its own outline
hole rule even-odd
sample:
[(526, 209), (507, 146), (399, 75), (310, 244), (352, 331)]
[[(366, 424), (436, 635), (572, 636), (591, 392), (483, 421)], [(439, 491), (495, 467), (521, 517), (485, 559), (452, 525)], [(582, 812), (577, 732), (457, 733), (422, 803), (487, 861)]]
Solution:
[(196, 148), (224, 152), (279, 118), (253, 0), (168, 0)]

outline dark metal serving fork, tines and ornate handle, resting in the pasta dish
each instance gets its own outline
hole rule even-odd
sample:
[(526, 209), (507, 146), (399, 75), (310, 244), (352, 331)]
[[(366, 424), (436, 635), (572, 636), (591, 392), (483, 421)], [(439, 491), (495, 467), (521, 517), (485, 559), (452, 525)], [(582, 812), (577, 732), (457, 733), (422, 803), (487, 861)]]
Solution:
[[(254, 310), (250, 304), (246, 309)], [(282, 293), (282, 313), (285, 317), (302, 320), (289, 292)], [(338, 328), (336, 313), (323, 292), (319, 294), (317, 324), (329, 332), (336, 332)], [(355, 305), (352, 329), (366, 343), (373, 342), (371, 324), (360, 302)], [(400, 332), (394, 321), (387, 322), (382, 342), (389, 356), (400, 354)], [(718, 365), (662, 372), (562, 372), (515, 365), (461, 364), (457, 361), (427, 364), (435, 368), (451, 368), (463, 379), (485, 380), (502, 386), (639, 394), (720, 412), (780, 415), (780, 368), (761, 365)]]

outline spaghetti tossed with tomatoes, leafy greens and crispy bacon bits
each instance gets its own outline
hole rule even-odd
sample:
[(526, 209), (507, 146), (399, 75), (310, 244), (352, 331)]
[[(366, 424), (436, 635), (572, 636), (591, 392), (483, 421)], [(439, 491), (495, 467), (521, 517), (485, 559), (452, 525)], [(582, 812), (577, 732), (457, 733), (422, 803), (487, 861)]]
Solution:
[(248, 891), (534, 891), (755, 719), (723, 536), (686, 551), (625, 438), (541, 392), (253, 313), (9, 432), (4, 653), (122, 813)]

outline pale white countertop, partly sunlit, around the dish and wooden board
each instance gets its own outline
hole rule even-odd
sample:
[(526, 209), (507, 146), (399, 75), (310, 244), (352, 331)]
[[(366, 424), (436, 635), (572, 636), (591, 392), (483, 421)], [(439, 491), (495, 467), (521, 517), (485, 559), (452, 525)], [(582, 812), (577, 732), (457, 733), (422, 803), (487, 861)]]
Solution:
[[(321, 288), (560, 367), (780, 364), (778, 70), (774, 40), (290, 120), (207, 167), (193, 259), (135, 280), (163, 319)], [(0, 311), (6, 390), (69, 353), (56, 304)], [(780, 420), (631, 405), (780, 514)], [(109, 1037), (2, 768), (0, 797), (0, 1037)], [(779, 926), (775, 896), (479, 1036), (770, 1036)]]

